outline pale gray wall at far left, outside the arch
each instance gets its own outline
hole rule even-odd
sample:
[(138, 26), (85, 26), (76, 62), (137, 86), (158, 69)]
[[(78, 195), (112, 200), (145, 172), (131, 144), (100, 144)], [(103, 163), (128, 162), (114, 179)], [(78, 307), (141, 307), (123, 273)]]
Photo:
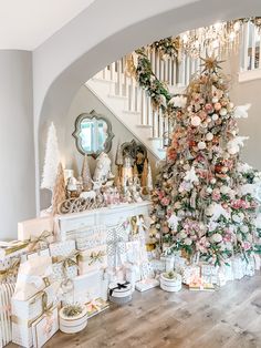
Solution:
[(35, 214), (32, 54), (0, 51), (0, 239)]

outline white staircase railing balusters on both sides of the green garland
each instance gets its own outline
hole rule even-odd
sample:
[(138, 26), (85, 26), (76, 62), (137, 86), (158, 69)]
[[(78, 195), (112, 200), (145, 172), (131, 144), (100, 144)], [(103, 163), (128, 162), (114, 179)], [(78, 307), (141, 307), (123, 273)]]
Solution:
[[(188, 85), (191, 75), (196, 73), (199, 68), (199, 59), (192, 60), (190, 57), (185, 57), (181, 62), (177, 63), (176, 59), (163, 59), (155, 49), (150, 51), (149, 59), (154, 73), (160, 81), (166, 83), (170, 93), (182, 92)], [(90, 82), (109, 82), (109, 96), (112, 99), (124, 100), (122, 115), (116, 116), (121, 119), (128, 114), (136, 115), (136, 127), (139, 130), (149, 130), (148, 141), (156, 144), (153, 147), (156, 149), (158, 157), (163, 157), (163, 154), (159, 155), (159, 153), (164, 151), (165, 135), (171, 132), (171, 124), (169, 120), (164, 117), (161, 110), (153, 110), (150, 98), (147, 95), (146, 91), (137, 85), (134, 78), (126, 74), (125, 62), (126, 58), (124, 57), (117, 62), (107, 65)], [(95, 89), (93, 83), (91, 85), (91, 83), (87, 82), (86, 85), (92, 90)], [(96, 95), (100, 93), (101, 89)], [(137, 135), (137, 137), (140, 136)]]

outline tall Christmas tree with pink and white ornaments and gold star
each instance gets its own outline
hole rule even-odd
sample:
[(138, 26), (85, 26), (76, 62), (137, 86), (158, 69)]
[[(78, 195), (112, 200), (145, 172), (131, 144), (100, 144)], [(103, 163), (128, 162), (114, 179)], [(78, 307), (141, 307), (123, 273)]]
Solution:
[[(213, 264), (258, 250), (255, 226), (260, 173), (240, 162), (246, 136), (237, 117), (220, 61), (203, 59), (202, 72), (187, 89), (187, 104), (177, 108), (167, 158), (157, 177), (153, 219), (166, 253), (184, 250)], [(178, 105), (177, 105), (178, 106)]]

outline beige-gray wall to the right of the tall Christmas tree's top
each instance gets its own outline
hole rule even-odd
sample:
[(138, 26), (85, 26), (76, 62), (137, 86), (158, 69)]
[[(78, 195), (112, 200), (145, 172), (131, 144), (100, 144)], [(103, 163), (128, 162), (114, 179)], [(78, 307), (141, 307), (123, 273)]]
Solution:
[(239, 55), (231, 54), (223, 64), (230, 75), (230, 99), (234, 105), (251, 103), (248, 119), (240, 119), (239, 135), (249, 136), (241, 151), (241, 158), (261, 171), (261, 80), (238, 82)]

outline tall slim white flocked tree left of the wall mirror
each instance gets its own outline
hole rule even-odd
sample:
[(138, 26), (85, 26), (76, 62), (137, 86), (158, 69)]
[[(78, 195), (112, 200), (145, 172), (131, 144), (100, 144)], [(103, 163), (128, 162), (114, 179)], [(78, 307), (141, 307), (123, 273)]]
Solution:
[(53, 191), (59, 162), (60, 153), (58, 147), (58, 135), (55, 126), (52, 122), (48, 131), (41, 188)]

